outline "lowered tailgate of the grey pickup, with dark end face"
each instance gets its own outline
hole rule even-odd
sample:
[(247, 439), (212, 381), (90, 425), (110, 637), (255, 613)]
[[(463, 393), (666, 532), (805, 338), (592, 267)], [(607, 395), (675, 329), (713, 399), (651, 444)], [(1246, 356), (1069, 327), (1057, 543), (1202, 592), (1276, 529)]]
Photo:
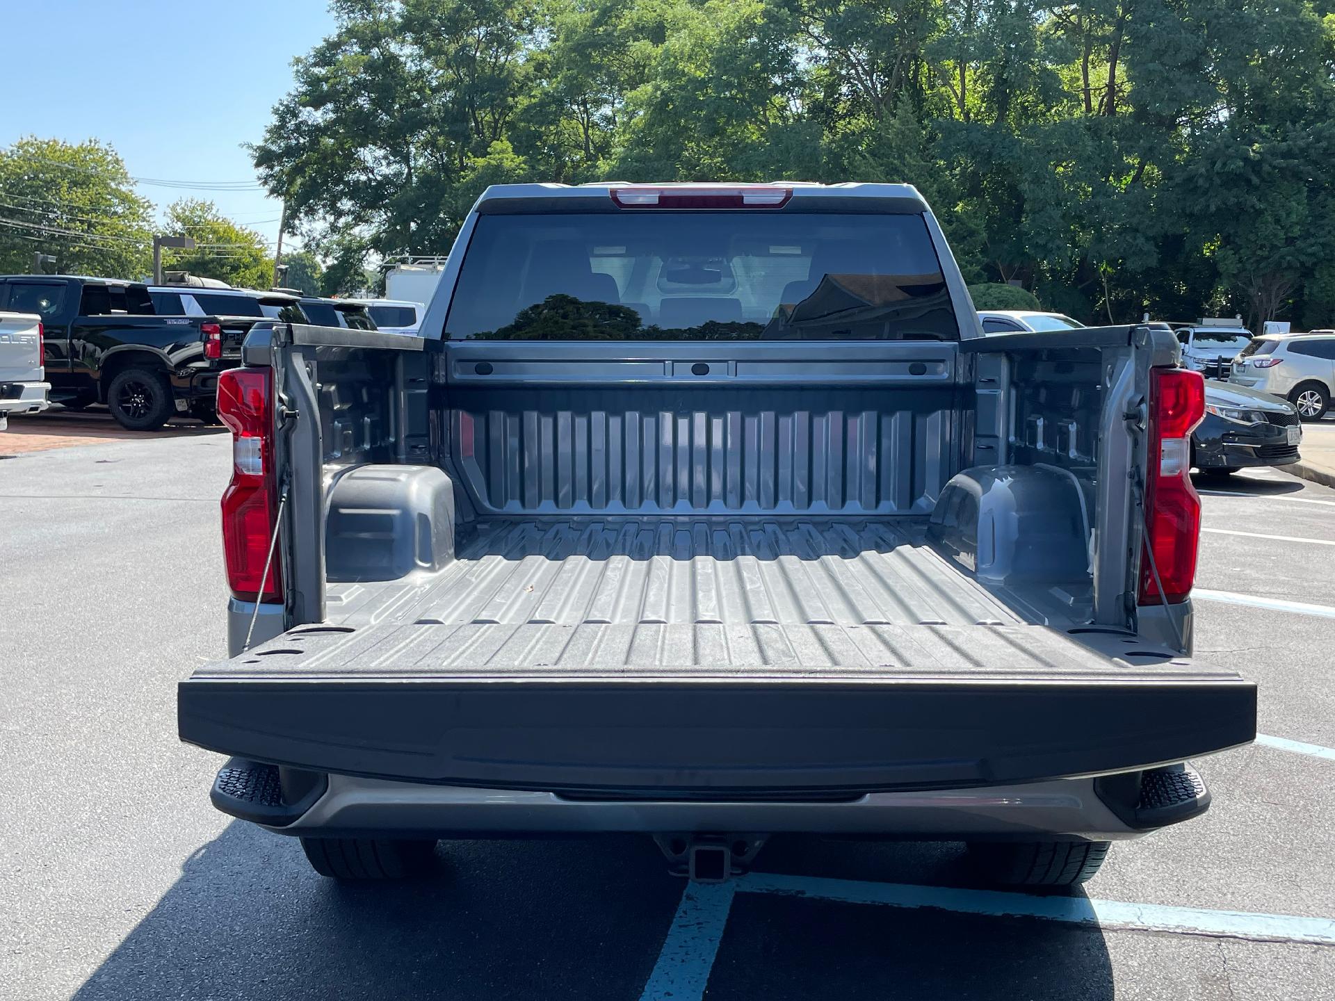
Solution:
[[(566, 651), (637, 629), (531, 625), (563, 630), (549, 639)], [(662, 629), (661, 650), (690, 649)], [(963, 667), (733, 662), (726, 671), (487, 654), (543, 647), (519, 630), (298, 627), (182, 682), (180, 735), (255, 761), (417, 782), (792, 795), (1125, 771), (1246, 743), (1256, 727), (1255, 686), (1236, 674), (1169, 655), (1131, 663), (1152, 654), (1101, 655), (1043, 626), (957, 629), (949, 642), (980, 653)], [(1127, 649), (1125, 635), (1095, 641)], [(425, 649), (455, 653), (445, 666), (407, 655)]]

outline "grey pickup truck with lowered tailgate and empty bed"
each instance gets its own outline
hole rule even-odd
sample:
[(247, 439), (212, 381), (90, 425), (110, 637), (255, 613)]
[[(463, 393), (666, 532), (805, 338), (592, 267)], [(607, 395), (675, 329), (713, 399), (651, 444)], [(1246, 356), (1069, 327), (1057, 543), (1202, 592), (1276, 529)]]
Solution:
[(984, 336), (908, 186), (491, 187), (421, 336), (267, 323), (219, 379), (179, 734), (335, 878), (810, 831), (1080, 882), (1255, 737), (1189, 654), (1202, 408), (1167, 327)]

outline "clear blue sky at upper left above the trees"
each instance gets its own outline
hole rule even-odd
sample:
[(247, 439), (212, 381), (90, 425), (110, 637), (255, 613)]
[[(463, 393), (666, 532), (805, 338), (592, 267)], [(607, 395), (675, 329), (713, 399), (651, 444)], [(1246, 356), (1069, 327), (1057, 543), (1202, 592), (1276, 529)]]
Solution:
[[(327, 0), (4, 0), (0, 147), (25, 135), (109, 143), (136, 178), (255, 179), (256, 141), (292, 85), (292, 59), (328, 35)], [(21, 96), (19, 96), (21, 95)], [(262, 191), (140, 184), (159, 210), (206, 198), (278, 236)]]

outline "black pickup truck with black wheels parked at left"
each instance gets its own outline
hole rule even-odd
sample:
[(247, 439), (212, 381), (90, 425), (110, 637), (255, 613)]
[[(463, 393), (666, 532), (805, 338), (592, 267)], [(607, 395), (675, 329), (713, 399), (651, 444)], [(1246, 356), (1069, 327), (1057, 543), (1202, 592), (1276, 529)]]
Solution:
[[(45, 330), (51, 400), (105, 403), (121, 427), (154, 431), (174, 414), (210, 407), (224, 346), (254, 320), (154, 315), (148, 288), (68, 275), (0, 275), (0, 310), (36, 314)], [(238, 351), (239, 354), (239, 351)]]

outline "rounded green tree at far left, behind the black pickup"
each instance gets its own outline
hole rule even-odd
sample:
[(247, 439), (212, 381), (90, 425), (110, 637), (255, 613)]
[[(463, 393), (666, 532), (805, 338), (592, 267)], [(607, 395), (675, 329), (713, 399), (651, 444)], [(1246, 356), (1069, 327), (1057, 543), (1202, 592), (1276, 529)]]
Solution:
[(27, 272), (40, 252), (67, 274), (143, 278), (151, 219), (124, 161), (96, 139), (28, 136), (0, 149), (0, 271)]

